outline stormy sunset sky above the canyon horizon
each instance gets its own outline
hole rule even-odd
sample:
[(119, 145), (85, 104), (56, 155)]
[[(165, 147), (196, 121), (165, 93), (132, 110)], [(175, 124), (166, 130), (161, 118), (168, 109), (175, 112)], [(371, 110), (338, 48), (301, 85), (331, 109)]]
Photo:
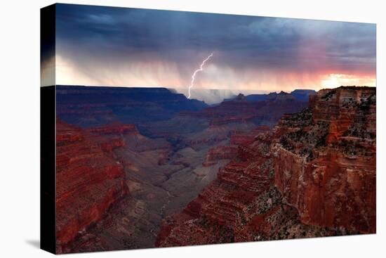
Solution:
[(55, 56), (42, 55), (42, 84), (164, 86), (186, 94), (211, 53), (192, 91), (376, 83), (375, 24), (58, 4)]

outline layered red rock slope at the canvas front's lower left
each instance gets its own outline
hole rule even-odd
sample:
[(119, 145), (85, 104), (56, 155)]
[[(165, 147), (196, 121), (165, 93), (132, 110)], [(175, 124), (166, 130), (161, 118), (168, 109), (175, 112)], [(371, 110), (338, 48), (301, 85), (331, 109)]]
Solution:
[[(129, 126), (130, 127), (130, 126)], [(70, 252), (69, 243), (98, 222), (109, 207), (128, 194), (124, 167), (112, 150), (125, 145), (109, 129), (81, 130), (56, 123), (56, 243), (57, 252)], [(112, 131), (126, 131), (116, 127)]]

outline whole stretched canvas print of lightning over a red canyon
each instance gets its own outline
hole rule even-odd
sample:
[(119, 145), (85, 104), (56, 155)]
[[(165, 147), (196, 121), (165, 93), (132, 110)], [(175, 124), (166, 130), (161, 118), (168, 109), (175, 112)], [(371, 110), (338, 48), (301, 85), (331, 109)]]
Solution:
[(375, 58), (369, 23), (42, 8), (41, 248), (375, 233)]

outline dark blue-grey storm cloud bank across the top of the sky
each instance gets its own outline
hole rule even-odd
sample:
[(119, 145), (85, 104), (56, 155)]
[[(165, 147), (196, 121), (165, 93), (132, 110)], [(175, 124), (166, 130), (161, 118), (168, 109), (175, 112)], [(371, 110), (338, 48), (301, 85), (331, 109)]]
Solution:
[(214, 51), (232, 70), (375, 75), (373, 24), (67, 4), (56, 12), (58, 52), (83, 66), (157, 60), (185, 75)]

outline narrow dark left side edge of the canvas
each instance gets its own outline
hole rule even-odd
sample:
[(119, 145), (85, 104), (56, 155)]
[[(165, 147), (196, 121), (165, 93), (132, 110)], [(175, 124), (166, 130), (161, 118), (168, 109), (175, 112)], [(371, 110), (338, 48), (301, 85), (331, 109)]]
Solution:
[[(51, 86), (47, 86), (50, 85)], [(55, 5), (41, 9), (40, 247), (55, 253)]]

